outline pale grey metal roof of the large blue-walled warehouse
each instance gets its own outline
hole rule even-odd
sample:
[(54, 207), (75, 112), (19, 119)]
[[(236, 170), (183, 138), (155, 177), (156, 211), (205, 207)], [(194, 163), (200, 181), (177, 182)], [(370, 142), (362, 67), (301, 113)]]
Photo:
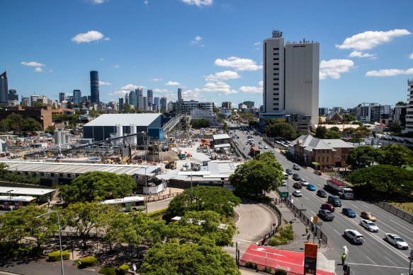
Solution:
[(148, 126), (155, 119), (162, 114), (104, 114), (89, 123), (84, 124), (84, 127), (88, 126), (115, 126), (120, 124), (122, 126)]

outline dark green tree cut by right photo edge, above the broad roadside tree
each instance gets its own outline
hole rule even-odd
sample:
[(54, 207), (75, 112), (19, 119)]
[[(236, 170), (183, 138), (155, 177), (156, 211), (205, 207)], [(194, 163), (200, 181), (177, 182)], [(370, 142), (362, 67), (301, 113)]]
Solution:
[(389, 144), (380, 147), (383, 155), (380, 156), (380, 164), (389, 164), (401, 167), (402, 165), (413, 165), (413, 151), (400, 144)]

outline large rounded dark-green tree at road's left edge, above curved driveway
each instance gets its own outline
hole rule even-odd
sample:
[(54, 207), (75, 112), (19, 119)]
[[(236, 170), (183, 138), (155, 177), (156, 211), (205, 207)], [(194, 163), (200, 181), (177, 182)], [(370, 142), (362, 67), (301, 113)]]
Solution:
[(283, 182), (283, 167), (271, 152), (259, 154), (253, 160), (239, 165), (230, 175), (231, 185), (237, 191), (259, 194), (275, 190)]

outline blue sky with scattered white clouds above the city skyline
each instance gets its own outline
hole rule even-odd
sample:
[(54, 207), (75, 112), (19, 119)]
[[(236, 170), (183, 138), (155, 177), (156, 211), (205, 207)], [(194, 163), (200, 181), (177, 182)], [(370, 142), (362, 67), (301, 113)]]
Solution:
[(319, 107), (407, 101), (413, 1), (1, 0), (0, 67), (9, 89), (80, 89), (99, 71), (103, 102), (154, 96), (262, 104), (262, 41), (320, 43)]

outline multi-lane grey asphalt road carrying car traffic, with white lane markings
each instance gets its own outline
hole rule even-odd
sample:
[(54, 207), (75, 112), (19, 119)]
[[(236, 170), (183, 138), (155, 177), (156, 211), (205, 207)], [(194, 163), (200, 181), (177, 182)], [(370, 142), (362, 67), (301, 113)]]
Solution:
[[(232, 124), (232, 126), (236, 126)], [(236, 131), (239, 139), (236, 139), (239, 143), (241, 151), (247, 154), (249, 153), (250, 146), (247, 145), (247, 131)], [(259, 137), (254, 136), (253, 143), (256, 146), (261, 141), (264, 145), (268, 146), (268, 149), (261, 149), (261, 152), (270, 151), (271, 146), (265, 144), (265, 142)], [(278, 150), (274, 151), (274, 155), (284, 170), (290, 168), (293, 170), (293, 163), (287, 160)], [(327, 177), (325, 175), (319, 176), (312, 172), (312, 169), (300, 168), (297, 172), (303, 180), (315, 185), (316, 189), (323, 189), (326, 183)], [(295, 182), (290, 176), (288, 179), (288, 187), (280, 187), (281, 192), (289, 189), (290, 194), (293, 192), (293, 182)], [(327, 202), (326, 198), (317, 197), (316, 191), (309, 191), (303, 187), (300, 189), (302, 197), (293, 197), (293, 203), (300, 209), (306, 209), (306, 216), (316, 216), (319, 207), (322, 203)], [(329, 192), (327, 192), (329, 195)], [(389, 213), (378, 206), (369, 203), (368, 201), (360, 200), (344, 200), (341, 199), (341, 207), (336, 207), (334, 211), (334, 221), (323, 221), (322, 231), (325, 233), (329, 240), (329, 246), (331, 247), (325, 256), (328, 259), (334, 259), (341, 264), (341, 254), (344, 252), (344, 247), (348, 250), (346, 262), (351, 267), (352, 274), (408, 274), (409, 269), (409, 253), (413, 245), (413, 226), (407, 221), (403, 221), (392, 213)], [(342, 208), (351, 208), (356, 213), (356, 218), (348, 218), (341, 213)], [(359, 223), (361, 217), (359, 216), (361, 211), (370, 211), (377, 218), (375, 222), (379, 228), (378, 233), (370, 233), (368, 230), (362, 228)], [(344, 238), (345, 229), (358, 230), (363, 234), (365, 242), (363, 245), (353, 245), (349, 240)], [(404, 238), (409, 244), (409, 250), (399, 250), (390, 243), (384, 240), (385, 233), (395, 233)], [(337, 270), (341, 270), (341, 266)]]

